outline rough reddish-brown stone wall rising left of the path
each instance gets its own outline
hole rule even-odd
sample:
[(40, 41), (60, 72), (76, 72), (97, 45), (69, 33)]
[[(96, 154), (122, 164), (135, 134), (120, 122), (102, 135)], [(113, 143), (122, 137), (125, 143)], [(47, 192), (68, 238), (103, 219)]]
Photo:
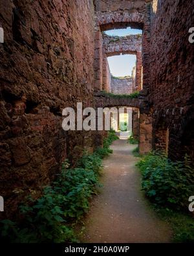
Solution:
[(30, 191), (39, 195), (66, 157), (92, 147), (88, 133), (62, 130), (61, 111), (79, 101), (93, 106), (93, 5), (1, 0), (0, 26), (0, 191), (12, 213)]

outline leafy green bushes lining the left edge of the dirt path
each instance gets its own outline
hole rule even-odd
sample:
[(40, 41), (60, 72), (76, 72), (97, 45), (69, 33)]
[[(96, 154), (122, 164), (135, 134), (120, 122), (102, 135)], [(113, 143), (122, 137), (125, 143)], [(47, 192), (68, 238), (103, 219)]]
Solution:
[(109, 145), (117, 139), (115, 132), (103, 141), (103, 148), (94, 154), (84, 154), (76, 168), (68, 161), (61, 174), (45, 187), (38, 200), (28, 198), (19, 207), (20, 221), (1, 221), (1, 239), (9, 242), (76, 242), (74, 224), (89, 209), (89, 199), (96, 194), (102, 158), (112, 151)]

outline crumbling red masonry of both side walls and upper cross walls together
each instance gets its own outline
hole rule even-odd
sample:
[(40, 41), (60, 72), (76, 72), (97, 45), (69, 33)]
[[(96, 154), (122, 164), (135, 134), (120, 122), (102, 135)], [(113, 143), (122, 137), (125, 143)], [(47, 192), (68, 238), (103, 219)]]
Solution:
[[(30, 192), (38, 197), (68, 157), (102, 144), (98, 132), (65, 132), (63, 108), (97, 107), (110, 91), (107, 56), (137, 56), (125, 106), (140, 111), (140, 153), (166, 150), (194, 156), (193, 0), (1, 0), (0, 194), (12, 215)], [(109, 38), (103, 31), (142, 29), (142, 36)], [(111, 41), (112, 40), (112, 41)], [(96, 104), (96, 106), (95, 106)], [(114, 106), (121, 102), (115, 100)], [(122, 103), (123, 104), (123, 103)]]

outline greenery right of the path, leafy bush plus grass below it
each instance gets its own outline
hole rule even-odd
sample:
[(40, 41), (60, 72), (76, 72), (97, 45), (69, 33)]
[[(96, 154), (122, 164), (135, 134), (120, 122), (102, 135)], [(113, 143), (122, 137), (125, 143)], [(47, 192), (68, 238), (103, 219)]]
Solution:
[(173, 242), (194, 242), (193, 216), (186, 210), (193, 194), (193, 165), (173, 162), (162, 152), (144, 156), (138, 167), (142, 172), (142, 188), (154, 204), (155, 212), (173, 229)]

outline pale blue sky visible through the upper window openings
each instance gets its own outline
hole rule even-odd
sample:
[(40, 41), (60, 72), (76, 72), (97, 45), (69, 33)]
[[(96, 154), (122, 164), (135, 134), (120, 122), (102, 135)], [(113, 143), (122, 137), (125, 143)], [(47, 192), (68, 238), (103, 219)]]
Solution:
[[(131, 29), (113, 29), (105, 33), (109, 36), (127, 36), (129, 34), (142, 34), (142, 30)], [(131, 54), (116, 55), (108, 57), (109, 67), (113, 76), (131, 76), (133, 67), (136, 64), (136, 56)]]

